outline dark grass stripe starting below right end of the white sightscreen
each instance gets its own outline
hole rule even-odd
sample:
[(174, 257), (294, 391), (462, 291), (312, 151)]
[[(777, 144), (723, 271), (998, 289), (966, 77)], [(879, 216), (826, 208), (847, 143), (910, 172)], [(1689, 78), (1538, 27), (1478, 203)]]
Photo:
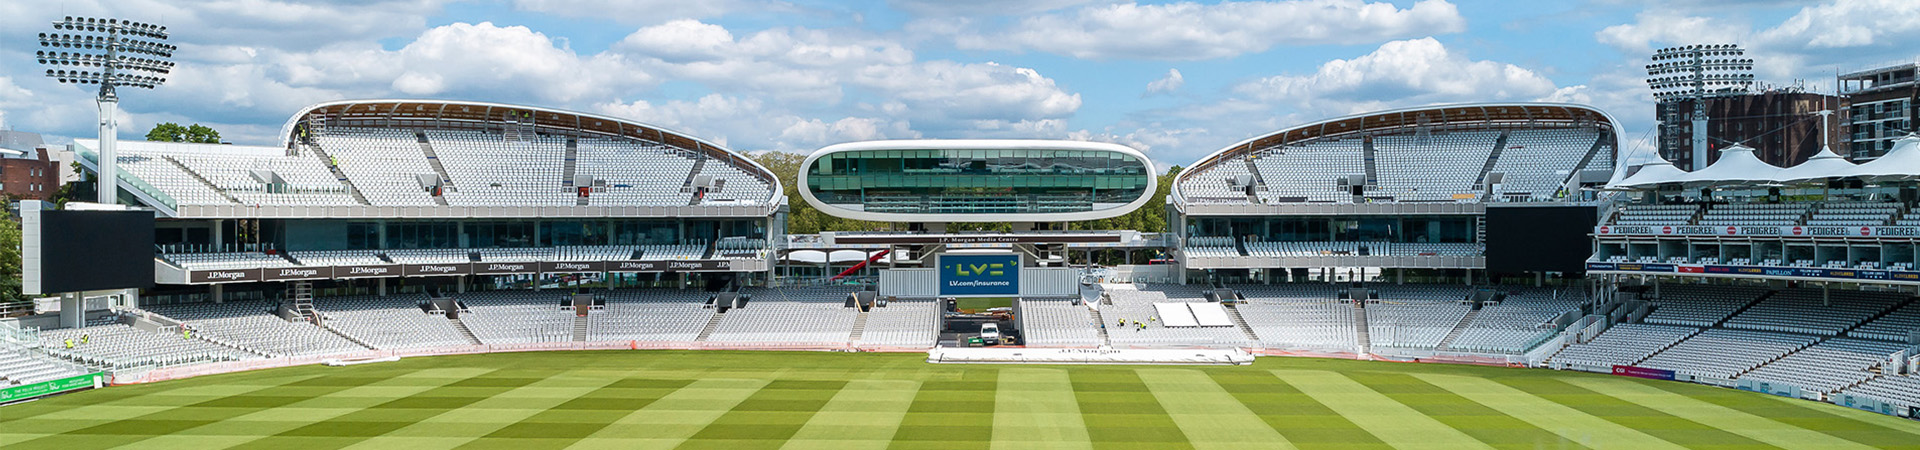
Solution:
[(1392, 448), (1354, 421), (1340, 417), (1300, 388), (1265, 371), (1208, 371), (1215, 385), (1240, 400), (1288, 442), (1304, 450)]

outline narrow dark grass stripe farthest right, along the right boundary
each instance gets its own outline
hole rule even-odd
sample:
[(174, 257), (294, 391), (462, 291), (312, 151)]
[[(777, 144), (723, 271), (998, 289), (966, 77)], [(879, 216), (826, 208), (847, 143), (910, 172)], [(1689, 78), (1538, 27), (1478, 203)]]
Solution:
[(1755, 394), (1734, 388), (1713, 388), (1688, 383), (1649, 383), (1649, 387), (1876, 448), (1920, 450), (1920, 423), (1910, 419), (1860, 413), (1836, 404)]

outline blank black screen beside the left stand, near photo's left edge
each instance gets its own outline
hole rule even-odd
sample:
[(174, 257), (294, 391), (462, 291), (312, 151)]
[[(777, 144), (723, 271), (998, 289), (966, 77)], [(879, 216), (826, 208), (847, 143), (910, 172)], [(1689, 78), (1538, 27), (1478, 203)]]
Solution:
[(40, 292), (148, 287), (154, 212), (40, 212)]

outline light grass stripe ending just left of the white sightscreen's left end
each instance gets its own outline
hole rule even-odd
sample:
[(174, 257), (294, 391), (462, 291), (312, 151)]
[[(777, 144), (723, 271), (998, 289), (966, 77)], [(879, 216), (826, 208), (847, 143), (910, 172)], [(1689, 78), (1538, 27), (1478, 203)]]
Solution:
[(914, 404), (920, 381), (849, 381), (783, 450), (881, 450), (900, 429), (900, 415)]

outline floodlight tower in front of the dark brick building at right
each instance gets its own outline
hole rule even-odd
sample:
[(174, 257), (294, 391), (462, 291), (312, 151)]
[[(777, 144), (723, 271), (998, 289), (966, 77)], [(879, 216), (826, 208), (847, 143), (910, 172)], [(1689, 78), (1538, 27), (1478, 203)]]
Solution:
[[(1736, 44), (1668, 46), (1653, 52), (1647, 87), (1653, 98), (1693, 100), (1693, 169), (1707, 165), (1707, 98), (1740, 96), (1753, 88), (1753, 60)], [(1661, 117), (1663, 125), (1674, 125)]]

